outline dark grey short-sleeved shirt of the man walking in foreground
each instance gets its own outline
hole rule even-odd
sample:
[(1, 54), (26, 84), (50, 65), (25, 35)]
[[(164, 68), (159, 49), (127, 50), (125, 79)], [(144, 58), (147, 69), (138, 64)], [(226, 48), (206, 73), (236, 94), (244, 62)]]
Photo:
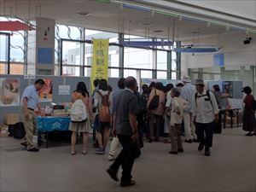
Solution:
[(137, 114), (138, 100), (132, 90), (120, 92), (116, 106), (116, 133), (122, 136), (131, 136), (132, 130), (129, 114)]

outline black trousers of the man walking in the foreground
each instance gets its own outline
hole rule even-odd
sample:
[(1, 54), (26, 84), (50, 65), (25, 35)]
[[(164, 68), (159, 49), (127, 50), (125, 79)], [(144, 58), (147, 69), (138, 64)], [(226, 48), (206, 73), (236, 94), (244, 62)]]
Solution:
[(119, 171), (119, 166), (122, 166), (123, 172), (121, 181), (122, 182), (130, 182), (131, 181), (131, 170), (135, 160), (135, 153), (137, 143), (133, 143), (131, 136), (120, 136), (119, 143), (121, 143), (123, 149), (121, 150), (119, 156), (114, 160), (112, 168), (115, 172)]

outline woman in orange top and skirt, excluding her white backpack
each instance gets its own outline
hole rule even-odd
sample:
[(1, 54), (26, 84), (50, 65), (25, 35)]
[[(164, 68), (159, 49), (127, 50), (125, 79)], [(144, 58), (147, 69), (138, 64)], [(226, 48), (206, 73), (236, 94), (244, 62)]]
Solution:
[(79, 82), (79, 84), (77, 85), (77, 89), (73, 91), (72, 102), (74, 103), (77, 100), (82, 100), (86, 108), (87, 117), (89, 116), (89, 118), (87, 118), (86, 120), (83, 120), (82, 122), (71, 122), (69, 125), (69, 130), (73, 131), (72, 137), (71, 137), (71, 154), (72, 155), (77, 154), (75, 151), (75, 145), (77, 141), (78, 132), (81, 132), (83, 134), (84, 149), (82, 154), (87, 154), (88, 152), (88, 133), (90, 131), (90, 122), (93, 121), (93, 114), (92, 114), (92, 106), (90, 102), (89, 92), (84, 82)]

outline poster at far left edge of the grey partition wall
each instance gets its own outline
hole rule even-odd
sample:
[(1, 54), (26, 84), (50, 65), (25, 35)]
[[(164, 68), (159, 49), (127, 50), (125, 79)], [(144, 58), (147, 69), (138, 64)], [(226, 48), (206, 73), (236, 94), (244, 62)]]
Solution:
[(20, 106), (20, 79), (0, 79), (0, 106)]

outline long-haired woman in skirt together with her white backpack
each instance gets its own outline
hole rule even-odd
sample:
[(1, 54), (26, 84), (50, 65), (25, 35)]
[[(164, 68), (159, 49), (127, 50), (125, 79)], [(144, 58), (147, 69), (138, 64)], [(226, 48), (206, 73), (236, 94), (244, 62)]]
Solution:
[(73, 91), (72, 102), (73, 106), (70, 111), (71, 123), (69, 125), (69, 130), (73, 131), (71, 137), (71, 154), (77, 154), (75, 145), (78, 133), (83, 134), (84, 149), (82, 154), (87, 154), (88, 133), (91, 129), (90, 122), (93, 120), (93, 114), (89, 92), (84, 82), (77, 84), (77, 89)]

